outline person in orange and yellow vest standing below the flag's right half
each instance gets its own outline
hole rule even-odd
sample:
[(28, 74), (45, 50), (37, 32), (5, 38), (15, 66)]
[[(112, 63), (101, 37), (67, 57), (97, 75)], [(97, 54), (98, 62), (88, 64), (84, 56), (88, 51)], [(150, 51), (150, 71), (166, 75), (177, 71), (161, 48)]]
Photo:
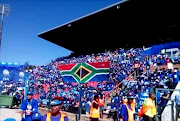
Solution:
[(91, 102), (90, 121), (99, 121), (101, 106), (103, 106), (103, 104), (100, 102), (99, 95), (95, 95), (93, 101)]

